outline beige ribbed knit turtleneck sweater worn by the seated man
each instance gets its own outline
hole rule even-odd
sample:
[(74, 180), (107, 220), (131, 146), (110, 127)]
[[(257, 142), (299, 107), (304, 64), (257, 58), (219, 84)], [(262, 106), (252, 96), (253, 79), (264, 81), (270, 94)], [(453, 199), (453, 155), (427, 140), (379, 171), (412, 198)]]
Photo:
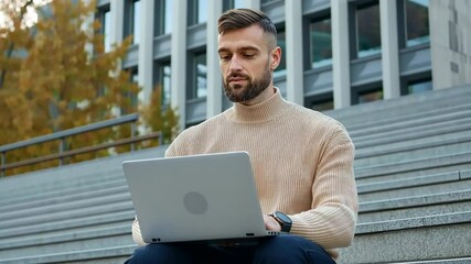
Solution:
[[(336, 258), (336, 248), (353, 239), (357, 195), (354, 146), (341, 123), (282, 99), (233, 108), (183, 131), (167, 156), (247, 151), (261, 210), (287, 213), (291, 233), (322, 245)], [(139, 223), (135, 241), (143, 245)]]

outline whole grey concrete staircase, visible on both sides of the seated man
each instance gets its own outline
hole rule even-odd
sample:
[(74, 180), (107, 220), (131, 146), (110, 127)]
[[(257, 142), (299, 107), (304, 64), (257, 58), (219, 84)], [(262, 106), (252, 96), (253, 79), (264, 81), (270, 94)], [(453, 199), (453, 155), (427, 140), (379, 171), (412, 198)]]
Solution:
[[(339, 263), (471, 263), (471, 86), (327, 112), (356, 146), (354, 243)], [(136, 249), (121, 162), (0, 179), (0, 263), (122, 263)]]

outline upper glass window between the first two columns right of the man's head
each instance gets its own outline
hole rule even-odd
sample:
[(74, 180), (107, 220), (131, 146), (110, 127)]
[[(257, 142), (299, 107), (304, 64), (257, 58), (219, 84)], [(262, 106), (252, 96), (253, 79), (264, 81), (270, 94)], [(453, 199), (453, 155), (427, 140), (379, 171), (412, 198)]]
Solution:
[(311, 67), (332, 64), (332, 22), (331, 19), (311, 20), (309, 24)]

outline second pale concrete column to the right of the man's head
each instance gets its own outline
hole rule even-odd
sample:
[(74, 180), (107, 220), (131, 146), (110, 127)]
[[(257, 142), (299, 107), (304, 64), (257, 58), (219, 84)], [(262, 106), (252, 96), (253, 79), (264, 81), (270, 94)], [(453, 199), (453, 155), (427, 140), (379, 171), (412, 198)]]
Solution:
[(332, 15), (332, 72), (334, 108), (351, 105), (349, 1), (331, 0)]

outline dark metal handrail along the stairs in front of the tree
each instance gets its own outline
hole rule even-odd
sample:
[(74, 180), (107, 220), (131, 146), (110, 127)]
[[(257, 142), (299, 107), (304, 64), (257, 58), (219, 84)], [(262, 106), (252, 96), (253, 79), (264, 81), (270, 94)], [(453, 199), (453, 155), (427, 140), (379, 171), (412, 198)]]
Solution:
[[(60, 131), (60, 132), (43, 135), (43, 136), (38, 136), (31, 140), (15, 142), (12, 144), (0, 146), (0, 177), (4, 176), (7, 169), (29, 166), (29, 165), (44, 163), (44, 162), (54, 161), (54, 160), (58, 160), (60, 161), (58, 166), (62, 166), (64, 165), (64, 161), (66, 157), (71, 157), (71, 156), (84, 154), (84, 153), (96, 152), (99, 150), (105, 150), (105, 148), (120, 146), (120, 145), (130, 145), (130, 151), (132, 152), (135, 151), (135, 143), (146, 141), (146, 140), (159, 139), (159, 145), (161, 145), (162, 144), (161, 132), (154, 132), (154, 133), (140, 135), (140, 136), (136, 135), (138, 120), (139, 120), (139, 114), (132, 113), (132, 114), (122, 116), (116, 119), (100, 121), (100, 122), (96, 122), (96, 123), (92, 123), (92, 124), (87, 124), (87, 125), (83, 125), (83, 127), (78, 127), (69, 130), (64, 130), (64, 131)], [(122, 125), (126, 123), (131, 123), (131, 135), (128, 139), (121, 139), (113, 142), (106, 142), (97, 145), (65, 151), (65, 144), (66, 144), (65, 140), (69, 136), (83, 134), (86, 132), (96, 131), (100, 129), (111, 128), (116, 125)], [(58, 153), (7, 164), (8, 152), (31, 146), (31, 145), (41, 144), (49, 141), (56, 141), (56, 140), (60, 140)]]

